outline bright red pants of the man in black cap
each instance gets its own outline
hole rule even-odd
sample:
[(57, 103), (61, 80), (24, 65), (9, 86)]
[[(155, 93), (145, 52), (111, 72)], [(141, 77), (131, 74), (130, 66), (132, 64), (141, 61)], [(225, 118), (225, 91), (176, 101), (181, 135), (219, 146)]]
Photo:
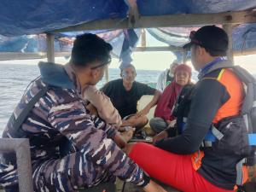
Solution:
[(191, 155), (172, 154), (147, 143), (136, 143), (129, 154), (151, 177), (184, 192), (228, 192), (195, 171)]

